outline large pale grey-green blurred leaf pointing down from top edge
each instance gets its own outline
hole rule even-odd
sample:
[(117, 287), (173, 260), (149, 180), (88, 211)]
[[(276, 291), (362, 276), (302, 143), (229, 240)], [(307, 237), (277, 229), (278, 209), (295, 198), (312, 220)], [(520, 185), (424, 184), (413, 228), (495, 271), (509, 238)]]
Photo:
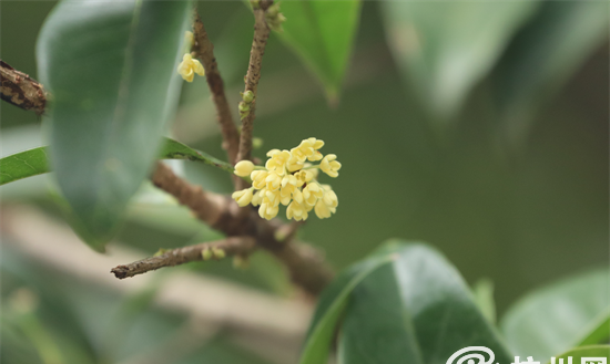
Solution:
[(396, 62), (429, 112), (455, 114), (538, 6), (527, 1), (382, 1)]

